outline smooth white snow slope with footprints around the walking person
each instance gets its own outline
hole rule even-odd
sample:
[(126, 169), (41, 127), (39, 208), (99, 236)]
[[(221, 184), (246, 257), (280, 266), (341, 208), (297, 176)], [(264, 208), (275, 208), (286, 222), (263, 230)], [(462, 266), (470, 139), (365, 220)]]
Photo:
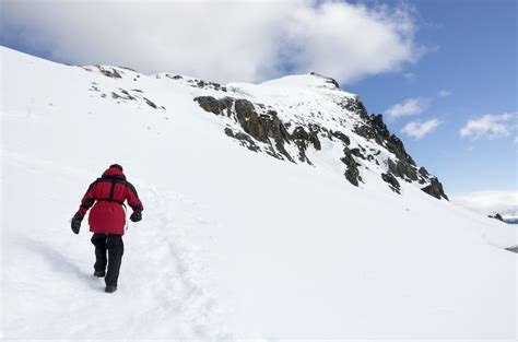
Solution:
[[(325, 145), (319, 167), (252, 153), (181, 82), (1, 56), (3, 340), (516, 338), (514, 226), (355, 188)], [(115, 162), (145, 210), (107, 295), (69, 220)]]

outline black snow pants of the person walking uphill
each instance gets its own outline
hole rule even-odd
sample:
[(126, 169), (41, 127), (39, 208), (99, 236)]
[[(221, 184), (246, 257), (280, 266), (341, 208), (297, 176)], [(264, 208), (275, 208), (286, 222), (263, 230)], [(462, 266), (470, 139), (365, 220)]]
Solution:
[[(95, 246), (95, 271), (106, 271), (107, 264), (108, 271), (104, 281), (106, 285), (117, 286), (120, 263), (125, 253), (122, 235), (95, 233), (92, 236), (92, 244)], [(106, 251), (108, 251), (108, 258), (106, 258)]]

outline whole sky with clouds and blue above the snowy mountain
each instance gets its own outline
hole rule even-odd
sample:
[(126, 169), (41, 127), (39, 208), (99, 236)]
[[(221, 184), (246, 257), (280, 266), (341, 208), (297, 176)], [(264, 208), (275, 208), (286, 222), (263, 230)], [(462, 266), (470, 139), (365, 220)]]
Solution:
[(332, 76), (447, 193), (518, 189), (515, 0), (1, 5), (0, 44), (58, 62), (219, 82)]

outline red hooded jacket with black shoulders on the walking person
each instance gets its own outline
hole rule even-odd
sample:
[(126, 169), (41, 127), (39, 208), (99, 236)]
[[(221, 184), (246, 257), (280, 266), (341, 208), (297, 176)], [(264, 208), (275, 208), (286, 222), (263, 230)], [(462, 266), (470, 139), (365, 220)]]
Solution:
[(78, 212), (84, 216), (94, 205), (89, 216), (90, 232), (123, 235), (125, 201), (128, 201), (133, 212), (144, 209), (137, 190), (126, 180), (125, 174), (116, 167), (110, 167), (89, 187)]

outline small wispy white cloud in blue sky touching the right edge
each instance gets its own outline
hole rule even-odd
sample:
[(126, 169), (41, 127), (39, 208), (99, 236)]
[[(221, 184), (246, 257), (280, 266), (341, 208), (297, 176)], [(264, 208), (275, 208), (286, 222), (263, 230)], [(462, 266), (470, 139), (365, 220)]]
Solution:
[[(471, 138), (473, 140), (497, 139), (510, 134), (510, 131), (516, 129), (516, 120), (518, 113), (492, 115), (487, 114), (476, 119), (469, 120), (460, 130), (460, 137)], [(509, 121), (514, 120), (514, 123)]]

